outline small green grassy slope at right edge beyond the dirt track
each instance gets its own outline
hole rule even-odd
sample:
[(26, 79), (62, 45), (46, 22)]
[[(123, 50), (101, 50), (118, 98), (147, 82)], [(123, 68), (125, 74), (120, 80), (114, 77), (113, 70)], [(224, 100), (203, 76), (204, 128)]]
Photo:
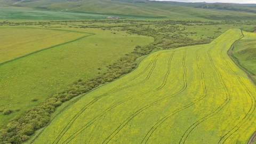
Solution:
[(234, 47), (234, 55), (241, 65), (249, 70), (256, 80), (256, 33), (244, 31), (244, 38), (239, 40)]

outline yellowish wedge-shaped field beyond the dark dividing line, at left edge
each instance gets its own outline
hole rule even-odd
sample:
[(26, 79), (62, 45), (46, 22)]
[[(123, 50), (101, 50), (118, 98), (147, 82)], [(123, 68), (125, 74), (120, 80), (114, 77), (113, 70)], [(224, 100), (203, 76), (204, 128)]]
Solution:
[(89, 34), (75, 31), (0, 27), (0, 64)]

